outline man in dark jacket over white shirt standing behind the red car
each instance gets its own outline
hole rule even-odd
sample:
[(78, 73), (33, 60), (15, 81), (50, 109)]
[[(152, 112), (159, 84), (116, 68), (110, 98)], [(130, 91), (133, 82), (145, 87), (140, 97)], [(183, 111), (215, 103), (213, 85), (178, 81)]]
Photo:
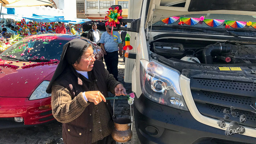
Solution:
[(91, 25), (91, 30), (88, 31), (87, 39), (99, 44), (100, 37), (101, 37), (101, 33), (97, 29), (97, 24), (95, 22), (93, 22)]

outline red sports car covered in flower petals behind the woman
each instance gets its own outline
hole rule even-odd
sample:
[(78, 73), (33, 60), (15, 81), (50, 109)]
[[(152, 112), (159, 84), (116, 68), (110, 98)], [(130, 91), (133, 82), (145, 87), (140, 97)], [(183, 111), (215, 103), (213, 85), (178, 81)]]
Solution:
[(63, 45), (72, 39), (90, 42), (95, 58), (103, 60), (102, 49), (95, 43), (66, 34), (26, 37), (0, 54), (0, 128), (54, 120), (51, 95), (45, 90), (57, 68)]

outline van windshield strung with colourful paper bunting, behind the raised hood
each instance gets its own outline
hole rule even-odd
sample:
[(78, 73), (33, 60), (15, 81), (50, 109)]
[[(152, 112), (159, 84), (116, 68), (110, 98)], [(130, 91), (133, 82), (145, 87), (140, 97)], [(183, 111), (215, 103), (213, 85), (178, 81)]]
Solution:
[(256, 37), (256, 16), (235, 14), (187, 14), (152, 24), (152, 31), (225, 33)]

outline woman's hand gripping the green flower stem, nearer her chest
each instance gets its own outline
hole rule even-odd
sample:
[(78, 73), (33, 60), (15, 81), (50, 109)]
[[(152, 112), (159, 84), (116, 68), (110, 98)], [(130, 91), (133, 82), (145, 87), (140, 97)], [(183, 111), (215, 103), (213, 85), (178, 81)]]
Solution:
[(86, 91), (85, 96), (89, 102), (93, 102), (95, 105), (99, 104), (102, 100), (106, 102), (106, 99), (100, 91)]

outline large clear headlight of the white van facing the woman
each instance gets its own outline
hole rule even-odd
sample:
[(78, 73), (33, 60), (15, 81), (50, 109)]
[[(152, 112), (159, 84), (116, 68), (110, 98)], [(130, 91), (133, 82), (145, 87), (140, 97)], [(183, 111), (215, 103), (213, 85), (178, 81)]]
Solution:
[(140, 86), (153, 102), (188, 111), (180, 90), (179, 71), (155, 60), (140, 60)]

